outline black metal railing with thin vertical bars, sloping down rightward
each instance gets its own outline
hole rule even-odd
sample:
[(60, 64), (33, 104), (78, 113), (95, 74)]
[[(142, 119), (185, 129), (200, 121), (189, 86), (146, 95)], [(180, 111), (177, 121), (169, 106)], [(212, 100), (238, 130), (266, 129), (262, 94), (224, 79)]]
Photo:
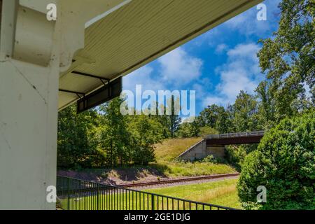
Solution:
[(57, 176), (57, 197), (66, 210), (236, 210), (66, 176)]

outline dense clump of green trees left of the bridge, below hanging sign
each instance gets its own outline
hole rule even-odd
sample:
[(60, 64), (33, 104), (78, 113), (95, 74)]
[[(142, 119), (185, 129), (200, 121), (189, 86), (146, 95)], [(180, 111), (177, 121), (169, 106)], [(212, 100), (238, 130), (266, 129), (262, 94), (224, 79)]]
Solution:
[(76, 114), (74, 106), (59, 112), (57, 165), (100, 168), (147, 165), (153, 145), (163, 138), (162, 125), (149, 116), (123, 116), (113, 99), (98, 111)]

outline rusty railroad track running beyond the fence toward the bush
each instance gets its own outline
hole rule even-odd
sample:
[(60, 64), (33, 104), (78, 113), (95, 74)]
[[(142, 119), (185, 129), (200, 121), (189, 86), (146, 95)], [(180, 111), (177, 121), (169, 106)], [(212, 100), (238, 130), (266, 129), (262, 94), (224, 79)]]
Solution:
[(154, 185), (181, 183), (181, 182), (189, 182), (189, 181), (203, 181), (203, 180), (210, 180), (210, 179), (221, 179), (221, 178), (232, 177), (232, 176), (239, 176), (239, 173), (216, 174), (216, 175), (210, 175), (210, 176), (195, 176), (195, 177), (187, 177), (187, 178), (183, 178), (183, 179), (173, 179), (173, 180), (166, 180), (166, 181), (127, 183), (127, 184), (121, 184), (121, 185), (117, 185), (117, 186), (121, 187), (121, 188), (137, 188), (137, 187), (144, 187), (144, 186), (154, 186)]

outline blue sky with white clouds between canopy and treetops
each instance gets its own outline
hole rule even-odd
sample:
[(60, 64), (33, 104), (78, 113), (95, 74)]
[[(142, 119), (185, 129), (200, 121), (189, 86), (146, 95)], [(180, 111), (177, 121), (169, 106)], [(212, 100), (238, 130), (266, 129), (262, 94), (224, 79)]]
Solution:
[(227, 106), (240, 90), (253, 93), (265, 78), (256, 54), (280, 18), (280, 0), (266, 0), (267, 20), (253, 7), (123, 78), (124, 90), (195, 90), (196, 112), (209, 104)]

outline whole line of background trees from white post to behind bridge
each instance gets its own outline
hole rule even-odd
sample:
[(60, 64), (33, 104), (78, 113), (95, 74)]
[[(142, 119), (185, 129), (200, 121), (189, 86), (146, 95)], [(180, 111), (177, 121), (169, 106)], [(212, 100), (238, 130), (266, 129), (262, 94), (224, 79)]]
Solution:
[[(80, 114), (76, 114), (75, 107), (70, 106), (59, 112), (58, 166), (146, 165), (154, 161), (153, 145), (162, 139), (259, 130), (259, 103), (256, 98), (241, 91), (235, 104), (228, 109), (208, 106), (191, 123), (181, 123), (174, 110), (171, 115), (164, 116), (123, 116), (120, 104), (124, 99), (120, 98), (99, 106), (97, 110)], [(248, 148), (253, 147), (241, 146), (243, 148), (247, 153), (251, 151)], [(231, 161), (240, 165), (243, 154)]]

